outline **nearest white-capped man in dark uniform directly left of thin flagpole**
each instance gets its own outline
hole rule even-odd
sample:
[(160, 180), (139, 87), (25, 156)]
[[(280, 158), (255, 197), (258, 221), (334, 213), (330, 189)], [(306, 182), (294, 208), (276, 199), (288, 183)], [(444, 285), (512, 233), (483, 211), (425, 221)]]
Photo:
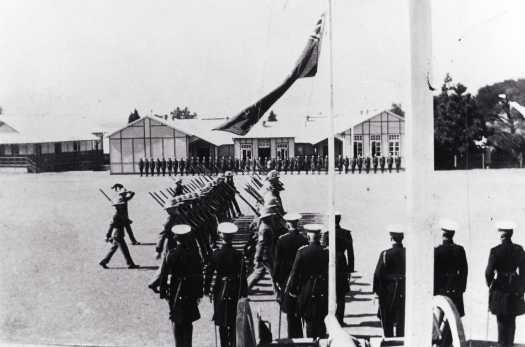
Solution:
[(297, 300), (299, 315), (306, 323), (306, 335), (326, 336), (328, 313), (328, 251), (320, 243), (320, 224), (306, 224), (308, 245), (297, 250), (285, 295)]

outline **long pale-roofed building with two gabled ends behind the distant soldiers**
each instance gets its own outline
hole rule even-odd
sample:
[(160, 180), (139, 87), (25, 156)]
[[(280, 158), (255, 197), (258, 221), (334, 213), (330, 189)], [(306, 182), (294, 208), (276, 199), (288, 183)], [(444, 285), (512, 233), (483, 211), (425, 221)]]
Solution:
[[(336, 156), (403, 156), (404, 118), (390, 111), (335, 123)], [(145, 116), (109, 135), (112, 174), (137, 173), (142, 159), (191, 157), (287, 158), (328, 155), (328, 118), (261, 120), (245, 136), (212, 130), (224, 119), (164, 119)]]

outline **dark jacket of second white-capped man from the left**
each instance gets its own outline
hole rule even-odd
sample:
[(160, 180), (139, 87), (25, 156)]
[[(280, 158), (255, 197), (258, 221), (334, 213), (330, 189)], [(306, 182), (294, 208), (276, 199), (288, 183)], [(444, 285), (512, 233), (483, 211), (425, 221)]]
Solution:
[[(212, 286), (214, 275), (216, 280)], [(237, 302), (248, 295), (248, 282), (243, 256), (231, 244), (223, 244), (211, 255), (206, 265), (204, 289), (213, 300), (215, 324), (233, 325)]]

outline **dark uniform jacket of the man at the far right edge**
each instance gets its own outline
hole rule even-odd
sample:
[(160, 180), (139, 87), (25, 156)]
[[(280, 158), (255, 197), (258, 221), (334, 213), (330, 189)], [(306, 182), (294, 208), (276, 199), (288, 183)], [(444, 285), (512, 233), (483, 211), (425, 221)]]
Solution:
[(490, 288), (489, 308), (492, 313), (517, 316), (525, 312), (525, 253), (520, 245), (504, 241), (492, 248), (485, 279)]

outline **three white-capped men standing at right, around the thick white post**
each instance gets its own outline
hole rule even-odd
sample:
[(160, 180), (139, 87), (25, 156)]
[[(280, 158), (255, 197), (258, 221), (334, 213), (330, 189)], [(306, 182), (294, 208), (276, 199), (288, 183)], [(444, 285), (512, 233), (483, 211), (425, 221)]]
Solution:
[[(490, 250), (485, 280), (489, 287), (489, 310), (497, 317), (498, 346), (507, 347), (514, 343), (516, 316), (525, 313), (525, 252), (522, 246), (511, 240), (514, 223), (499, 222), (496, 227), (501, 243)], [(443, 241), (434, 249), (434, 295), (448, 297), (459, 316), (463, 317), (468, 264), (465, 249), (454, 243), (456, 229), (457, 224), (453, 221), (441, 222)], [(373, 291), (379, 299), (378, 317), (384, 336), (404, 336), (404, 234), (399, 226), (389, 226), (387, 231), (390, 233), (392, 247), (379, 255)], [(452, 345), (450, 327), (441, 334), (433, 334), (432, 338), (433, 345)]]

